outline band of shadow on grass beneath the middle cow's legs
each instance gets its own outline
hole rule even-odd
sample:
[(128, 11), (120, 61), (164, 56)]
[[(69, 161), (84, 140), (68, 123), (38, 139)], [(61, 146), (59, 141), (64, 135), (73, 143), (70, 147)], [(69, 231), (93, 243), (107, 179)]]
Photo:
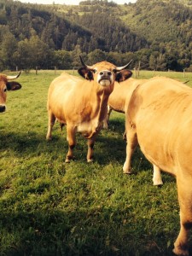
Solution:
[[(56, 126), (56, 125), (55, 125)], [(109, 130), (102, 130), (96, 137), (94, 147), (94, 160), (99, 165), (107, 165), (109, 162), (119, 162), (121, 165), (125, 162), (125, 147), (126, 142), (123, 140), (125, 130), (124, 121), (122, 119), (111, 120)], [(36, 132), (25, 133), (22, 131), (13, 132), (7, 131), (1, 134), (1, 151), (8, 151), (6, 154), (15, 154), (16, 156), (28, 157), (44, 153), (53, 154), (53, 158), (58, 154), (63, 156), (67, 154), (67, 139), (66, 130), (63, 134), (59, 132), (60, 127), (53, 132), (53, 140), (47, 142), (45, 134)], [(56, 130), (55, 129), (55, 130)], [(87, 140), (80, 134), (76, 135), (77, 145), (74, 148), (76, 161), (86, 161)], [(54, 156), (55, 155), (55, 156)], [(132, 157), (133, 173), (139, 169), (151, 168), (148, 160), (145, 159), (139, 147)]]

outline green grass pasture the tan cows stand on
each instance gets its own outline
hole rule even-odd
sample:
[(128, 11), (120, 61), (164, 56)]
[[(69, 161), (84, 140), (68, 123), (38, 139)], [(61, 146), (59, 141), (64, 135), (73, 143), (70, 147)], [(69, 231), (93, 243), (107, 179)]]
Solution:
[[(0, 254), (172, 255), (179, 230), (175, 178), (163, 173), (164, 185), (154, 187), (139, 148), (133, 174), (123, 174), (124, 114), (112, 113), (109, 130), (96, 139), (93, 163), (86, 162), (81, 135), (76, 160), (64, 162), (66, 129), (59, 124), (53, 140), (45, 140), (47, 92), (60, 73), (21, 73), (22, 89), (8, 92), (7, 112), (0, 114)], [(153, 75), (141, 71), (139, 78)], [(155, 75), (192, 86), (192, 73)]]

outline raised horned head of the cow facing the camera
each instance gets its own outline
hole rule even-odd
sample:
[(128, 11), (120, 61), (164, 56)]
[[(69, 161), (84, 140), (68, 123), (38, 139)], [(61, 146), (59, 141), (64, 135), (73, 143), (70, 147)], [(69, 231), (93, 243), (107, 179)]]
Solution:
[(131, 61), (123, 67), (116, 67), (108, 61), (98, 62), (93, 66), (84, 64), (80, 56), (80, 61), (83, 67), (79, 68), (79, 74), (88, 80), (95, 80), (102, 86), (108, 86), (114, 83), (114, 81), (124, 81), (129, 79), (132, 75), (130, 70), (125, 69), (129, 66)]

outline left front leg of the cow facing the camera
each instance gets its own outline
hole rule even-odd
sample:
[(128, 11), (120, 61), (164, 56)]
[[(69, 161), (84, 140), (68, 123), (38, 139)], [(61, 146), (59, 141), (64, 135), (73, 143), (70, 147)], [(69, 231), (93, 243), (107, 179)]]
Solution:
[(70, 160), (74, 159), (73, 148), (76, 145), (75, 133), (76, 129), (72, 125), (67, 125), (68, 152), (66, 157), (66, 163), (69, 163)]

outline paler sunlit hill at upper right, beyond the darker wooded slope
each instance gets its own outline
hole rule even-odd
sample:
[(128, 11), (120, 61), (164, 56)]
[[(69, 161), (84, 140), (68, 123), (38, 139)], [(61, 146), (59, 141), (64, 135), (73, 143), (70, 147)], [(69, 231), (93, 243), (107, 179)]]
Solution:
[[(88, 28), (95, 38), (102, 38), (108, 51), (139, 51), (143, 67), (148, 66), (149, 61), (154, 69), (189, 67), (191, 0), (137, 0), (137, 3), (124, 5), (100, 3), (83, 1), (77, 7), (69, 6), (65, 15)], [(60, 6), (56, 12), (61, 14), (64, 9), (66, 7)]]

